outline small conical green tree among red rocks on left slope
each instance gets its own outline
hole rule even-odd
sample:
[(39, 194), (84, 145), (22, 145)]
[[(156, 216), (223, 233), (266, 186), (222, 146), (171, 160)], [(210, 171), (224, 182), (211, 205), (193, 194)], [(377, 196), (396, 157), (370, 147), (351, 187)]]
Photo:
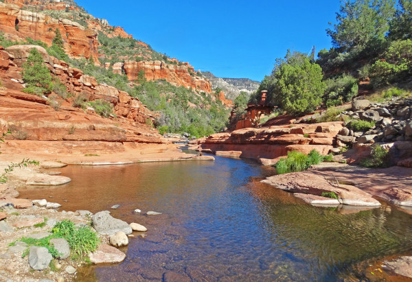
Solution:
[(41, 95), (52, 91), (52, 75), (43, 62), (43, 56), (36, 49), (30, 51), (27, 62), (23, 64), (23, 80), (27, 93)]

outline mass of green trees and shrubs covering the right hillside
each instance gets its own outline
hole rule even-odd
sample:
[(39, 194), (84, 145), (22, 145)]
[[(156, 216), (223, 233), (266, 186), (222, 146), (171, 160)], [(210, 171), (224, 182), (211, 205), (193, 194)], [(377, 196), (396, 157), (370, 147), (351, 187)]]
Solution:
[(316, 61), (288, 51), (276, 60), (250, 102), (258, 102), (267, 90), (268, 104), (301, 115), (350, 102), (361, 81), (370, 80), (373, 91), (393, 85), (411, 89), (411, 22), (410, 0), (398, 5), (394, 0), (342, 1), (336, 24), (326, 30), (333, 47), (321, 50)]

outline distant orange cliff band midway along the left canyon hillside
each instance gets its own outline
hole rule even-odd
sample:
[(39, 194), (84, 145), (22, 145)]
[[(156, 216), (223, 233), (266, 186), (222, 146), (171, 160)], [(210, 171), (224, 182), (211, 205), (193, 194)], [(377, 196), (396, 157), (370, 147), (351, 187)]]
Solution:
[[(106, 67), (109, 67), (106, 65)], [(117, 62), (113, 64), (113, 72), (121, 73), (122, 69), (130, 81), (138, 78), (139, 71), (144, 71), (146, 80), (166, 80), (177, 86), (185, 86), (194, 90), (211, 93), (211, 85), (208, 80), (198, 75), (190, 75), (194, 72), (193, 67), (185, 63), (166, 64), (165, 62), (155, 60), (150, 62), (135, 62), (126, 60), (126, 62)]]

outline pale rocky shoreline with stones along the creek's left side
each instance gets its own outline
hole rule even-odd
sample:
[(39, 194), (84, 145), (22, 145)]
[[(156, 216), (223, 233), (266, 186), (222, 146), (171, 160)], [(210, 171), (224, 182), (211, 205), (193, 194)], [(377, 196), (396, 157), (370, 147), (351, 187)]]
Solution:
[[(2, 150), (10, 148), (8, 141)], [(159, 148), (159, 147), (161, 148)], [(60, 176), (59, 172), (49, 169), (58, 169), (71, 165), (117, 165), (126, 163), (144, 163), (159, 161), (213, 161), (213, 156), (199, 156), (197, 154), (185, 154), (176, 148), (176, 145), (158, 145), (156, 148), (150, 144), (134, 150), (134, 156), (128, 154), (102, 154), (95, 156), (84, 156), (78, 154), (58, 156), (54, 161), (46, 161), (47, 155), (42, 152), (27, 152), (21, 150), (19, 153), (26, 158), (40, 160), (40, 165), (27, 165), (27, 167), (16, 167), (12, 172), (6, 174), (7, 183), (0, 184), (0, 280), (4, 281), (73, 281), (76, 278), (78, 268), (84, 266), (84, 261), (72, 261), (67, 259), (70, 255), (68, 244), (65, 239), (62, 245), (65, 248), (65, 259), (54, 259), (52, 267), (52, 255), (47, 248), (30, 247), (25, 242), (20, 242), (22, 237), (33, 237), (41, 239), (52, 235), (51, 231), (57, 222), (70, 220), (76, 226), (93, 226), (98, 233), (101, 244), (95, 252), (89, 255), (89, 263), (119, 263), (126, 257), (124, 252), (118, 250), (128, 244), (128, 237), (142, 234), (147, 231), (145, 226), (131, 222), (130, 224), (117, 220), (110, 215), (110, 211), (100, 211), (93, 215), (87, 210), (82, 211), (58, 211), (60, 203), (48, 202), (46, 199), (20, 199), (19, 187), (26, 185), (62, 185), (69, 183), (70, 178)], [(12, 161), (21, 161), (20, 154), (10, 154), (10, 150), (3, 151), (3, 160), (0, 162), (0, 170), (7, 168)], [(130, 153), (130, 152), (128, 152)], [(126, 157), (127, 156), (127, 157)], [(90, 160), (94, 157), (93, 161)], [(49, 156), (50, 158), (50, 156)], [(61, 161), (60, 161), (61, 160)], [(62, 161), (65, 161), (63, 163)], [(87, 209), (87, 207), (84, 207)], [(116, 207), (112, 207), (115, 209)], [(141, 211), (135, 210), (135, 213)], [(145, 213), (148, 216), (157, 215), (155, 211)], [(60, 242), (61, 243), (61, 242)], [(10, 246), (12, 244), (13, 246)], [(116, 248), (115, 248), (115, 247)], [(30, 247), (30, 248), (29, 248)], [(58, 248), (55, 245), (56, 248)], [(22, 257), (23, 252), (29, 255)], [(59, 249), (60, 252), (60, 249)], [(28, 257), (28, 259), (27, 259)], [(2, 262), (3, 261), (3, 262)], [(6, 263), (7, 261), (7, 263)], [(87, 264), (87, 263), (86, 263)], [(32, 271), (42, 270), (42, 271)]]

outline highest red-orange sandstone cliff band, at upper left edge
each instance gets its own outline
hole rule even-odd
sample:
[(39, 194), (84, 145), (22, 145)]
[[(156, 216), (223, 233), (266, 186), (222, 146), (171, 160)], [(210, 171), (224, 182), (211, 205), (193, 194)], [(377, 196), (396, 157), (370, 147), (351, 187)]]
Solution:
[(98, 61), (98, 34), (95, 30), (68, 19), (54, 19), (46, 14), (21, 10), (18, 5), (0, 3), (0, 31), (14, 40), (30, 37), (52, 45), (56, 28), (62, 34), (69, 56), (92, 57)]

